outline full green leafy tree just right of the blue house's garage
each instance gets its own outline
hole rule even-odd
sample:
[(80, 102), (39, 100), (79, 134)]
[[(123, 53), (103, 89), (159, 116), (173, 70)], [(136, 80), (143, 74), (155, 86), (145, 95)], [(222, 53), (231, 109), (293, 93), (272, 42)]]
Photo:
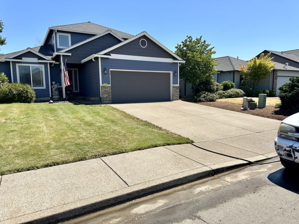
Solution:
[(210, 45), (206, 40), (202, 40), (202, 36), (194, 40), (192, 36), (187, 36), (176, 46), (176, 55), (185, 61), (180, 65), (180, 78), (192, 83), (194, 94), (197, 94), (197, 83), (212, 80), (217, 73), (214, 68), (217, 65), (216, 60), (212, 58), (216, 51)]

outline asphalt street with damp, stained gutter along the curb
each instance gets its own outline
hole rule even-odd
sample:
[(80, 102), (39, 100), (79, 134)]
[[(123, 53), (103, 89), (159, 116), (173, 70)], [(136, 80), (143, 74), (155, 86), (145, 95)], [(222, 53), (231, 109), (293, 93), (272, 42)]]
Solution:
[(277, 162), (239, 168), (65, 224), (295, 224), (298, 201), (294, 170)]

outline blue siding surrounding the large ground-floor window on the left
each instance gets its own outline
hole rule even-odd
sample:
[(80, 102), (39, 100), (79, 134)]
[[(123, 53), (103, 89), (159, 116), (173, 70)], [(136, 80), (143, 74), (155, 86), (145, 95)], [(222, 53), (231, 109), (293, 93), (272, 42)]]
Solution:
[(49, 74), (48, 74), (48, 63), (37, 63), (37, 62), (12, 62), (13, 66), (13, 81), (17, 82), (17, 68), (16, 64), (33, 64), (33, 65), (44, 65), (45, 67), (45, 89), (34, 89), (36, 93), (36, 97), (50, 97), (50, 92), (49, 92)]

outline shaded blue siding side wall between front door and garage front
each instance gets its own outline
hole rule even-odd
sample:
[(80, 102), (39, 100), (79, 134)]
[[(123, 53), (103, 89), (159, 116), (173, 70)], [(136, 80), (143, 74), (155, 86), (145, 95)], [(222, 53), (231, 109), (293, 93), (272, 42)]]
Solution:
[(100, 97), (99, 64), (88, 61), (79, 70), (80, 96)]

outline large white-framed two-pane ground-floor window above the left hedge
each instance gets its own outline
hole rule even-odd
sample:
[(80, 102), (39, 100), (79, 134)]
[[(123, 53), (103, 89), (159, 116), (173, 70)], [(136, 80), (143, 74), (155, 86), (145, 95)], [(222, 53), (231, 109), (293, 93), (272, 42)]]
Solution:
[(33, 89), (45, 89), (45, 66), (34, 64), (16, 64), (17, 81), (29, 84)]

